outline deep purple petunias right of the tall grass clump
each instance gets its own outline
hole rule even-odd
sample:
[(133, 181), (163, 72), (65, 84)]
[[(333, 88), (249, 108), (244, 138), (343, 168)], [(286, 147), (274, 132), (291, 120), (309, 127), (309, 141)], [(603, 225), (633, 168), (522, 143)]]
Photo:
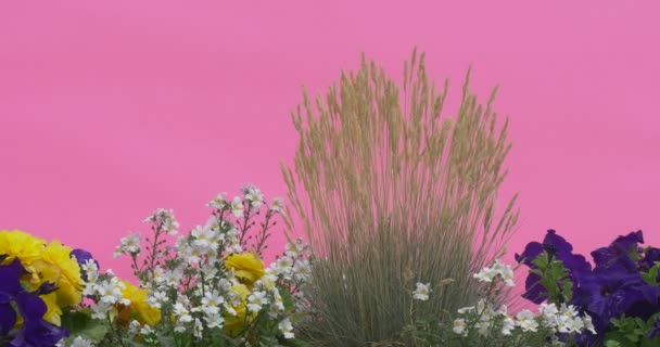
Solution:
[[(543, 243), (528, 244), (521, 255), (516, 255), (516, 260), (535, 268), (534, 259), (545, 252), (562, 261), (573, 283), (573, 298), (567, 304), (588, 313), (598, 333), (581, 337), (583, 343), (589, 344), (604, 336), (611, 319), (625, 316), (648, 320), (660, 312), (660, 286), (647, 283), (642, 275), (660, 261), (660, 249), (642, 249), (643, 243), (642, 231), (617, 237), (607, 247), (592, 252), (595, 264), (592, 269), (584, 257), (572, 253), (570, 243), (549, 230)], [(545, 300), (546, 291), (540, 275), (530, 273), (525, 288), (523, 297), (536, 304)], [(656, 322), (651, 335), (659, 334), (660, 323)]]

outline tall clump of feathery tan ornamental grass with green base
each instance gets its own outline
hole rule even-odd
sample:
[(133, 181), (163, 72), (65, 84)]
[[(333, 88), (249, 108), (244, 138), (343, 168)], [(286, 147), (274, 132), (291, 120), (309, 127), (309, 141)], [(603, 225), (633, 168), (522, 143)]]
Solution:
[(496, 213), (510, 143), (495, 91), (480, 104), (468, 73), (456, 117), (441, 117), (448, 82), (430, 82), (416, 52), (402, 90), (363, 56), (357, 73), (342, 73), (325, 97), (305, 92), (292, 114), (300, 142), (293, 166), (282, 165), (287, 222), (316, 257), (305, 329), (315, 346), (412, 345), (402, 336), (416, 283), (433, 291), (426, 313), (468, 306), (480, 288), (470, 274), (518, 219), (516, 196)]

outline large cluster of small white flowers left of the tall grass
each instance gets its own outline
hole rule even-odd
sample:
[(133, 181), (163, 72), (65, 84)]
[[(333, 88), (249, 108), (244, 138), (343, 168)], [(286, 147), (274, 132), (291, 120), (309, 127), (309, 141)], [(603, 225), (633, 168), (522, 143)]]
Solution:
[[(269, 219), (283, 210), (283, 201), (275, 198), (270, 204), (264, 194), (254, 185), (241, 188), (242, 196), (227, 198), (226, 193), (218, 194), (208, 203), (214, 209), (213, 216), (204, 226), (195, 227), (189, 234), (179, 235), (174, 247), (157, 250), (160, 244), (150, 245), (148, 269), (140, 268), (141, 287), (149, 290), (147, 304), (172, 313), (173, 331), (179, 334), (192, 334), (202, 338), (204, 332), (213, 329), (230, 329), (231, 324), (250, 324), (257, 316), (265, 314), (270, 322), (277, 323), (284, 338), (294, 337), (292, 314), (306, 308), (301, 286), (310, 280), (312, 266), (308, 260), (309, 248), (302, 240), (287, 245), (285, 253), (264, 269), (256, 256), (259, 240), (265, 241), (270, 227)], [(248, 244), (245, 233), (262, 208), (267, 208), (263, 230), (257, 233), (255, 246)], [(229, 217), (236, 218), (236, 223)], [(263, 215), (264, 216), (264, 215)], [(153, 230), (175, 234), (179, 224), (172, 210), (157, 209), (145, 222), (153, 223)], [(258, 239), (264, 237), (264, 239)], [(153, 240), (152, 240), (153, 242)], [(148, 246), (149, 247), (149, 246)], [(115, 255), (128, 255), (134, 260), (141, 253), (140, 235), (131, 233), (123, 237)], [(249, 255), (252, 253), (254, 256)], [(229, 268), (226, 261), (238, 256), (246, 261), (246, 270)], [(241, 261), (242, 261), (241, 260)], [(137, 262), (135, 262), (137, 264)], [(137, 267), (137, 266), (136, 266)], [(257, 278), (245, 283), (242, 272), (262, 267)], [(242, 272), (241, 272), (242, 271)], [(98, 278), (98, 277), (97, 277)], [(100, 298), (94, 312), (103, 313), (104, 305), (113, 305), (122, 299), (123, 283), (110, 277), (90, 285), (88, 294)], [(285, 291), (287, 293), (284, 293)], [(293, 307), (285, 307), (283, 298), (291, 297)], [(290, 301), (290, 300), (289, 300)], [(107, 312), (107, 311), (105, 311)], [(132, 323), (131, 323), (132, 324)], [(132, 326), (147, 340), (153, 332), (149, 326)]]

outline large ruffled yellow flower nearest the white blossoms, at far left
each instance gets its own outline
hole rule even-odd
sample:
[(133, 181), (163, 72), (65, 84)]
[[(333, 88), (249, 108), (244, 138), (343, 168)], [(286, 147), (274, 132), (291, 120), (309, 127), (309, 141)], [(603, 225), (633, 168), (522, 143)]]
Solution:
[(60, 307), (78, 305), (82, 299), (85, 282), (80, 278), (78, 262), (71, 257), (71, 252), (69, 247), (53, 241), (41, 250), (40, 261), (33, 264), (33, 268), (40, 277), (39, 284), (52, 282), (58, 286), (54, 293), (58, 295)]

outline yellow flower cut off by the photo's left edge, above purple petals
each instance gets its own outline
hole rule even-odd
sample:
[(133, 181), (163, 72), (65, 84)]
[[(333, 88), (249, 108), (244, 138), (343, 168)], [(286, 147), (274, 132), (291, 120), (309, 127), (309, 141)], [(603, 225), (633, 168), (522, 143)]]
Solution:
[(4, 264), (21, 259), (24, 266), (39, 259), (46, 242), (20, 230), (0, 230), (0, 255), (7, 255)]

